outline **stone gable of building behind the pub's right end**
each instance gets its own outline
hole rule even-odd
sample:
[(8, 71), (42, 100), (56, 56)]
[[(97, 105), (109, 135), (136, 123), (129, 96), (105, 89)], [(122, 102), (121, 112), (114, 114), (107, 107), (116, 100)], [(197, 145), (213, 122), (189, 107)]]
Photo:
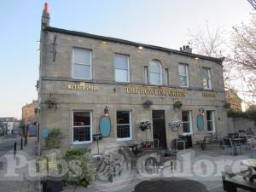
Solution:
[(238, 112), (241, 111), (241, 98), (237, 96), (235, 90), (225, 91), (226, 102), (230, 104), (230, 109)]

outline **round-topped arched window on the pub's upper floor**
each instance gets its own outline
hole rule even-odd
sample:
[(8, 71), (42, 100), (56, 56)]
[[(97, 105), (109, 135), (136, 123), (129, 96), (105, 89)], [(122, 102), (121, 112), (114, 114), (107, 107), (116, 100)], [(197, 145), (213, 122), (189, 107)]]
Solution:
[(162, 67), (160, 61), (150, 61), (149, 72), (150, 84), (162, 84)]

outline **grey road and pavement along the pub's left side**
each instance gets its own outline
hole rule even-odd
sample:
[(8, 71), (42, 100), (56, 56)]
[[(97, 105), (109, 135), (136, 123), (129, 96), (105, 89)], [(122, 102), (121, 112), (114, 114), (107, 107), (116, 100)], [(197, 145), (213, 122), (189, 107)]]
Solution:
[[(37, 138), (28, 138), (26, 146), (20, 150), (18, 134), (0, 137), (0, 191), (38, 192), (38, 178), (35, 172), (37, 157)], [(14, 156), (14, 145), (17, 151)]]

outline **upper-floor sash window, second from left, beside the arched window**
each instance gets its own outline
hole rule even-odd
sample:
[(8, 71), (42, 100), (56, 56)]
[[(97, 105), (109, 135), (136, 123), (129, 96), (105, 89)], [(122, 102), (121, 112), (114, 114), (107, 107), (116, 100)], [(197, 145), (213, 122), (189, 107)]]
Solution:
[(129, 56), (115, 54), (114, 55), (114, 68), (116, 82), (129, 82)]

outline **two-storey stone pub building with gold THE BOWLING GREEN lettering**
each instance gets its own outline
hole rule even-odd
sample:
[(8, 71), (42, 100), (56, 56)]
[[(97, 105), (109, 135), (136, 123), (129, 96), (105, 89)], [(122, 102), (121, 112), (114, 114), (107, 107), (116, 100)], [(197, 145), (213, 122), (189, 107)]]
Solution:
[[(171, 148), (178, 135), (195, 143), (227, 134), (222, 58), (51, 27), (47, 3), (40, 50), (42, 149), (44, 133), (55, 127), (65, 135), (63, 148), (90, 146), (104, 113), (117, 142), (157, 140)], [(146, 132), (143, 121), (151, 123)]]

